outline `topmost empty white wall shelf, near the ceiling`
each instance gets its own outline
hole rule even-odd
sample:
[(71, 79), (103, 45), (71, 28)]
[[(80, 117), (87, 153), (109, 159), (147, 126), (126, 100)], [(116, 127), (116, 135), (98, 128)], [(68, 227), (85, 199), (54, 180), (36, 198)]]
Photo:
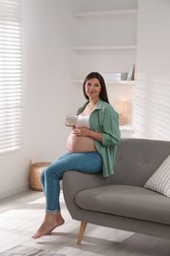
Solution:
[(125, 15), (137, 14), (137, 9), (124, 9), (124, 10), (107, 10), (107, 11), (94, 11), (94, 12), (73, 12), (73, 17), (84, 18), (94, 16), (110, 16), (110, 15)]

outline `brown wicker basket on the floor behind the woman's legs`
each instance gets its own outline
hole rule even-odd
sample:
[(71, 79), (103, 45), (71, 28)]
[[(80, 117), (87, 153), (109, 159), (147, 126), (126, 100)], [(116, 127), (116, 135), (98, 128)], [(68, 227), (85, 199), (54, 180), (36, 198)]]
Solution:
[(40, 183), (40, 174), (42, 170), (47, 167), (51, 162), (35, 162), (31, 163), (29, 167), (29, 185), (32, 189), (42, 191)]

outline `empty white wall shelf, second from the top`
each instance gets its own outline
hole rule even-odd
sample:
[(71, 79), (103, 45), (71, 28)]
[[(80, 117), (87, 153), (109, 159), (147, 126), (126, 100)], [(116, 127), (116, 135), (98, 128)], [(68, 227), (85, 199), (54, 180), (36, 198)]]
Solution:
[(131, 50), (137, 49), (136, 44), (124, 45), (90, 45), (90, 46), (75, 46), (73, 50)]

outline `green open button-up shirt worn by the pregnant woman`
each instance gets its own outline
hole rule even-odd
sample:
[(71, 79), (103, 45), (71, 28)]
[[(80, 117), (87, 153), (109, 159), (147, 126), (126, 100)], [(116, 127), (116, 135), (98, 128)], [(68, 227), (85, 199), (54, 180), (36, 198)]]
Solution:
[[(84, 110), (87, 103), (88, 101), (78, 110), (78, 114)], [(120, 141), (118, 113), (109, 103), (98, 99), (89, 116), (89, 128), (102, 133), (102, 142), (94, 140), (94, 145), (102, 158), (103, 176), (107, 177), (114, 173), (114, 161)]]

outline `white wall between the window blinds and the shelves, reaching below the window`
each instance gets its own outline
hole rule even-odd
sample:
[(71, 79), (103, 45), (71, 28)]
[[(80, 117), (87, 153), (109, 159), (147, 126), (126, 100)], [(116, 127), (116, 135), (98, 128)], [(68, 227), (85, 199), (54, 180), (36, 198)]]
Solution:
[(29, 159), (51, 161), (65, 152), (63, 115), (77, 109), (71, 87), (72, 0), (23, 0), (24, 144), (0, 156), (0, 198), (28, 187)]

